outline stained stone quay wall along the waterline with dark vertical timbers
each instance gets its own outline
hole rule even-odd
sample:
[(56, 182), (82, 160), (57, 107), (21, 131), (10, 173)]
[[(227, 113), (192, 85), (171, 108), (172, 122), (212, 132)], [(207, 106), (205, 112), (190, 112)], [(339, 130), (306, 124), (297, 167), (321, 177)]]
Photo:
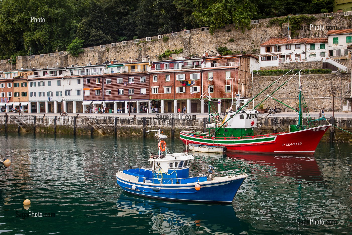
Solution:
[[(7, 117), (7, 122), (6, 122)], [(59, 134), (59, 135), (100, 135), (91, 126), (89, 126), (82, 117), (73, 116), (33, 116), (33, 115), (21, 115), (21, 119), (35, 131), (35, 133), (42, 134)], [(56, 125), (55, 125), (56, 119)], [(98, 121), (101, 126), (105, 127), (109, 137), (117, 136), (143, 136), (143, 130), (148, 131), (147, 123), (149, 123), (149, 131), (155, 130), (157, 128), (164, 129), (164, 134), (168, 137), (172, 137), (172, 132), (174, 133), (174, 138), (180, 137), (180, 131), (205, 131), (205, 125), (207, 124), (206, 118), (197, 118), (194, 120), (180, 120), (174, 119), (174, 125), (172, 125), (173, 120), (157, 120), (156, 118), (149, 118), (149, 120), (144, 121), (144, 118), (119, 118), (116, 117), (116, 131), (115, 131), (115, 117), (104, 117), (99, 116), (94, 118)], [(146, 119), (146, 118), (145, 118)], [(35, 120), (35, 123), (34, 123)], [(90, 118), (90, 120), (92, 120)], [(303, 118), (303, 124), (307, 124), (307, 119)], [(346, 131), (352, 132), (352, 118), (328, 118), (329, 123), (338, 126)], [(298, 122), (298, 117), (270, 117), (262, 119), (258, 118), (258, 127), (254, 128), (254, 134), (267, 134), (267, 133), (277, 133), (277, 132), (287, 132), (289, 131), (289, 125), (296, 125)], [(145, 124), (144, 124), (145, 123)], [(314, 126), (327, 125), (327, 121), (314, 122)], [(330, 128), (327, 133), (322, 138), (324, 141), (334, 141), (333, 132)], [(23, 130), (19, 128), (17, 123), (9, 116), (0, 116), (0, 133), (6, 132), (20, 132)], [(352, 134), (342, 131), (334, 127), (334, 132), (337, 141), (340, 142), (350, 142), (352, 141)], [(145, 137), (154, 138), (155, 132), (145, 133)]]

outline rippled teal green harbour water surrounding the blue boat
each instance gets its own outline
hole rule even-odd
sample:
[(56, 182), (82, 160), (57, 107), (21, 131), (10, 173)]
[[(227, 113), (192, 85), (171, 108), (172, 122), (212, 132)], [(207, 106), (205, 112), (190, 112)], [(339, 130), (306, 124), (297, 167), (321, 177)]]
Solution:
[[(117, 185), (119, 166), (149, 165), (155, 139), (2, 134), (0, 143), (12, 161), (0, 170), (1, 235), (352, 234), (351, 144), (339, 145), (341, 156), (327, 143), (314, 157), (194, 153), (191, 171), (211, 164), (249, 175), (232, 205), (194, 205), (136, 198)], [(21, 217), (29, 211), (43, 217)]]

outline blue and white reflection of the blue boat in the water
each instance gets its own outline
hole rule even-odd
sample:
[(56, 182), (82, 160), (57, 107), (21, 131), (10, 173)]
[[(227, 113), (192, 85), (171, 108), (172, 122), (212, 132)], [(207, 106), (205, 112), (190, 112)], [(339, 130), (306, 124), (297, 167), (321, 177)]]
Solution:
[(249, 224), (236, 217), (232, 205), (202, 205), (147, 200), (122, 193), (118, 217), (148, 216), (151, 229), (160, 234), (240, 234)]

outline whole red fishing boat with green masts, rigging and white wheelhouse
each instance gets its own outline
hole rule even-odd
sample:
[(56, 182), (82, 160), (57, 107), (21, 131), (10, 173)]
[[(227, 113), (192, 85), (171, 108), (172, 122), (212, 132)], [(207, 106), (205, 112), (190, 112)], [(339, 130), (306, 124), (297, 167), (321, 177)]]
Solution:
[[(296, 74), (299, 74), (300, 86), (298, 89), (299, 110), (298, 110), (298, 123), (297, 125), (290, 125), (288, 132), (271, 133), (264, 135), (254, 135), (254, 128), (257, 127), (257, 119), (259, 112), (255, 109), (260, 103), (264, 102), (267, 98), (271, 97), (275, 91), (287, 83)], [(256, 97), (245, 103), (243, 106), (238, 107), (237, 111), (229, 112), (222, 123), (216, 123), (215, 118), (210, 115), (209, 109), (209, 124), (207, 129), (209, 132), (196, 132), (196, 131), (182, 131), (180, 132), (180, 139), (184, 144), (201, 144), (204, 146), (225, 146), (227, 151), (232, 152), (247, 152), (247, 153), (270, 153), (270, 154), (299, 154), (299, 155), (313, 155), (319, 141), (331, 125), (312, 126), (313, 121), (325, 120), (321, 119), (312, 120), (307, 116), (307, 125), (302, 123), (302, 108), (307, 108), (301, 90), (301, 74), (296, 73), (289, 80), (279, 86), (274, 92), (260, 102), (253, 109), (246, 109), (248, 103), (254, 100), (257, 96), (262, 94), (272, 84), (276, 83), (279, 79), (273, 82), (270, 86), (265, 88)], [(209, 84), (210, 85), (210, 84)], [(209, 89), (208, 89), (209, 90)], [(208, 92), (208, 103), (210, 107), (210, 94)], [(296, 109), (276, 100), (296, 111)], [(237, 104), (237, 102), (236, 102)], [(307, 114), (309, 115), (309, 114)], [(214, 122), (211, 120), (214, 119)]]

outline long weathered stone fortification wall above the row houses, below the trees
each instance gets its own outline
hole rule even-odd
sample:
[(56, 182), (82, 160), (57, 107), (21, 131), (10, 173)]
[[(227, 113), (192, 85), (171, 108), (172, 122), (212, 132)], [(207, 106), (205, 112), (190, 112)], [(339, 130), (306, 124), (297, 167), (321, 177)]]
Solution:
[[(324, 26), (324, 29), (322, 30), (321, 27), (319, 27), (319, 30), (316, 27), (310, 29), (310, 24), (302, 22), (301, 29), (295, 32), (295, 38), (324, 37), (328, 30), (352, 28), (352, 21), (348, 17), (344, 17), (342, 13), (334, 13), (333, 17), (328, 18), (323, 17), (323, 14), (311, 14), (308, 16), (316, 17), (316, 20), (310, 23), (315, 26)], [(141, 38), (140, 43), (128, 41), (124, 45), (122, 45), (122, 42), (116, 43), (114, 47), (111, 47), (111, 44), (107, 44), (102, 48), (100, 45), (95, 46), (94, 50), (84, 48), (84, 52), (78, 58), (70, 56), (66, 52), (61, 55), (59, 52), (55, 52), (53, 56), (49, 56), (49, 54), (44, 54), (42, 57), (35, 55), (32, 59), (29, 56), (18, 56), (17, 69), (22, 66), (24, 68), (67, 67), (67, 65), (75, 64), (82, 66), (87, 65), (89, 62), (94, 65), (96, 63), (101, 64), (106, 60), (126, 61), (129, 58), (137, 59), (139, 56), (147, 55), (150, 56), (151, 60), (158, 60), (157, 56), (166, 49), (180, 48), (183, 48), (183, 56), (196, 54), (201, 56), (204, 52), (215, 55), (217, 47), (227, 47), (233, 51), (243, 51), (246, 54), (257, 55), (260, 43), (269, 40), (270, 37), (287, 34), (287, 24), (282, 26), (278, 23), (271, 24), (270, 20), (272, 19), (275, 18), (261, 19), (259, 24), (253, 24), (251, 29), (244, 30), (244, 32), (236, 29), (231, 24), (226, 25), (225, 29), (215, 30), (213, 35), (210, 35), (209, 31), (192, 29), (190, 34), (185, 34), (186, 31), (177, 32), (176, 36), (165, 34), (164, 36), (169, 38), (165, 42), (163, 39), (159, 39), (158, 36), (154, 36), (148, 42), (146, 38)], [(230, 42), (229, 40), (232, 38), (233, 42), (232, 40)]]

